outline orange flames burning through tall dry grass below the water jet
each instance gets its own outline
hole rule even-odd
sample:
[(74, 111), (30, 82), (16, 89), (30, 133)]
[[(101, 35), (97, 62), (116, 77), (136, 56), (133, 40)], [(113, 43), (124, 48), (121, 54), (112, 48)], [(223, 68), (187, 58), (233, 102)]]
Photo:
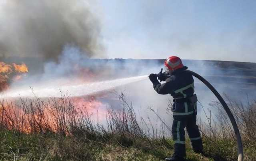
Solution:
[(79, 125), (86, 116), (101, 121), (106, 116), (106, 110), (101, 108), (103, 103), (94, 99), (62, 98), (42, 101), (40, 104), (34, 104), (31, 100), (24, 105), (16, 105), (13, 101), (10, 103), (0, 101), (0, 118), (2, 119), (0, 123), (3, 123), (7, 129), (23, 133), (62, 131), (68, 135), (70, 123)]

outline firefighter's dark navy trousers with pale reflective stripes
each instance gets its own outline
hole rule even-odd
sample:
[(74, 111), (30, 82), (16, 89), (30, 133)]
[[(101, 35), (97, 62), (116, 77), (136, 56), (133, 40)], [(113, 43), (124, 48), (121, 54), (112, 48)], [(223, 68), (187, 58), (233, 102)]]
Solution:
[(173, 115), (172, 136), (174, 140), (174, 155), (182, 157), (186, 156), (185, 127), (193, 150), (195, 152), (202, 151), (202, 139), (198, 125), (196, 125), (196, 112), (190, 115)]

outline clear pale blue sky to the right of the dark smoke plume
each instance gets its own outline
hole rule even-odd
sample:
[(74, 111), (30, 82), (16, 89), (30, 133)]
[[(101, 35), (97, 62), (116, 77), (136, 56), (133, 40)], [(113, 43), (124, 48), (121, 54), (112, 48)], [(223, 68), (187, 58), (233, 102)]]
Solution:
[(102, 0), (108, 58), (256, 62), (255, 0)]

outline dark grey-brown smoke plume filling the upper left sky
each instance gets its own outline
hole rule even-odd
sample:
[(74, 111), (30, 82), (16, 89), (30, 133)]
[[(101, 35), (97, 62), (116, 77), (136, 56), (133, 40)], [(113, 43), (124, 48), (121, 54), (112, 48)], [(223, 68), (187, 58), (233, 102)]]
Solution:
[(0, 6), (0, 57), (57, 60), (66, 44), (102, 56), (100, 22), (84, 0), (8, 0)]

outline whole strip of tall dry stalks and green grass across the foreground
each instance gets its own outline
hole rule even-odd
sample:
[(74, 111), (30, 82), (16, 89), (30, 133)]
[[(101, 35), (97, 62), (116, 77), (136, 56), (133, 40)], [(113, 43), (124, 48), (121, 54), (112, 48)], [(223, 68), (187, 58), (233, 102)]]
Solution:
[[(123, 94), (118, 97), (122, 105), (120, 109), (109, 107), (105, 111), (106, 123), (95, 122), (89, 107), (74, 105), (72, 99), (66, 95), (46, 101), (39, 98), (20, 99), (18, 102), (9, 103), (1, 101), (0, 159), (163, 160), (171, 155), (172, 138), (166, 137), (164, 128), (161, 135), (152, 137), (147, 133), (149, 128), (153, 128), (152, 124), (148, 128), (142, 128), (133, 106), (126, 101)], [(95, 99), (92, 98), (92, 104), (93, 101)], [(234, 115), (238, 118), (239, 108), (231, 107), (233, 113), (237, 112)], [(252, 112), (255, 107), (250, 104), (248, 110), (244, 108), (245, 117), (240, 116), (238, 123), (244, 141), (245, 160), (248, 161), (256, 157), (256, 147), (252, 142), (255, 141), (252, 135), (255, 128), (251, 128), (250, 132), (245, 128), (248, 122), (255, 123), (255, 119), (250, 120), (255, 118)], [(217, 116), (216, 118), (220, 117), (219, 114)], [(213, 127), (219, 125), (212, 125), (211, 122), (214, 121), (207, 125), (201, 124), (205, 154), (194, 154), (189, 139), (186, 139), (187, 159), (236, 160), (236, 141), (229, 131), (230, 124), (220, 119), (220, 125), (226, 126), (215, 130)], [(249, 136), (253, 137), (248, 138)]]

